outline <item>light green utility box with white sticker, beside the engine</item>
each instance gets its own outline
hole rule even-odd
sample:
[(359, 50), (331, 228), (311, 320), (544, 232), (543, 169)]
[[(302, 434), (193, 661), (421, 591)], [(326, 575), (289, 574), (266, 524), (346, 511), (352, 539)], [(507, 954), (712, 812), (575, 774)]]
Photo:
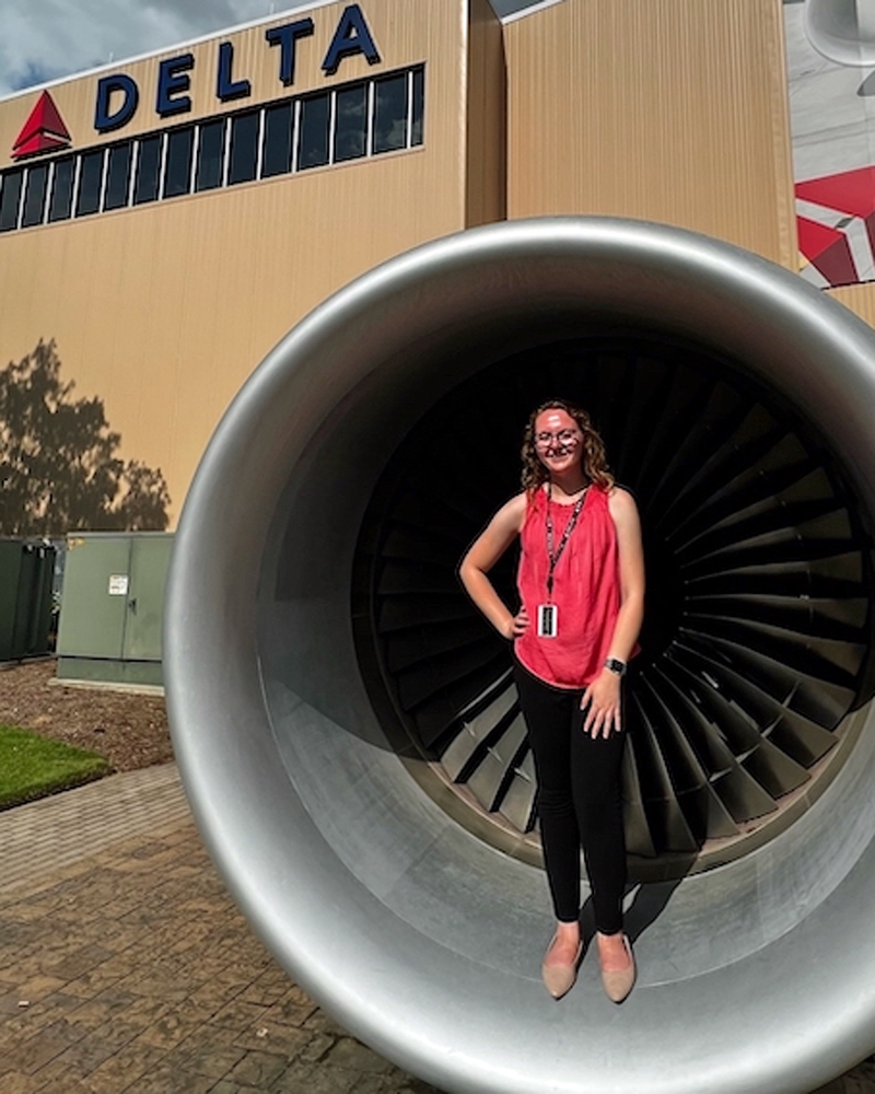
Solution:
[(58, 677), (161, 684), (161, 626), (173, 535), (68, 536)]

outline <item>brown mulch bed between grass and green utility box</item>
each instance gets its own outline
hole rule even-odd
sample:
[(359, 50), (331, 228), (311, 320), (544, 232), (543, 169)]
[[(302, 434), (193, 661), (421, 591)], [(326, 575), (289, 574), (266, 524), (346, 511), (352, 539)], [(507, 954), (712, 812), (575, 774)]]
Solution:
[(164, 700), (50, 684), (55, 661), (0, 664), (0, 723), (103, 756), (116, 771), (173, 759)]

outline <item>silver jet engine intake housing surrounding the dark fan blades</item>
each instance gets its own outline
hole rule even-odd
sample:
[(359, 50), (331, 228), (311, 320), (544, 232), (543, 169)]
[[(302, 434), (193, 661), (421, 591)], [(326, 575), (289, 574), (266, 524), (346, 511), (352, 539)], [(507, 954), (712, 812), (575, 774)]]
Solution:
[[(865, 643), (851, 643), (851, 670), (837, 665), (822, 686), (812, 684), (817, 633), (791, 643), (802, 652), (786, 671), (770, 652), (784, 614), (757, 631), (763, 644), (747, 684), (735, 654), (721, 662), (725, 679), (737, 677), (750, 695), (771, 687), (757, 665), (781, 679), (792, 670), (802, 683), (774, 701), (798, 712), (794, 696), (807, 688), (806, 717), (818, 696), (844, 686), (841, 672), (859, 687), (825, 731), (836, 734), (836, 758), (824, 779), (816, 776), (827, 760), (812, 767), (818, 792), (808, 783), (794, 790), (785, 823), (763, 829), (768, 838), (698, 872), (689, 862), (676, 869), (656, 848), (651, 881), (629, 897), (640, 980), (618, 1009), (600, 991), (593, 954), (561, 1003), (546, 994), (540, 958), (552, 923), (544, 875), (532, 856), (514, 853), (504, 822), (503, 841), (483, 837), (488, 808), (483, 825), (465, 822), (451, 801), (456, 775), (429, 783), (439, 738), (433, 754), (428, 743), (398, 745), (402, 689), (389, 709), (395, 670), (372, 657), (382, 624), (359, 610), (357, 559), (382, 549), (362, 529), (417, 423), (487, 368), (500, 377), (502, 361), (594, 329), (655, 333), (719, 358), (745, 391), (809, 430), (810, 451), (822, 449), (838, 492), (868, 526), (875, 334), (828, 295), (726, 244), (643, 222), (518, 221), (428, 244), (300, 323), (244, 386), (203, 456), (176, 536), (165, 625), (183, 780), (234, 898), (281, 965), (352, 1033), (439, 1087), (805, 1092), (873, 1047), (875, 724)], [(622, 391), (605, 405), (622, 408)], [(477, 433), (467, 422), (458, 435)], [(487, 461), (478, 456), (468, 470), (486, 475)], [(422, 492), (427, 512), (446, 514), (453, 487), (433, 479)], [(784, 538), (794, 558), (798, 537)], [(867, 554), (864, 544), (864, 569)], [(777, 593), (784, 571), (774, 565)], [(835, 579), (837, 596), (848, 580)], [(790, 600), (798, 607), (804, 594)], [(816, 614), (822, 597), (812, 601)], [(865, 615), (861, 596), (854, 605)], [(682, 629), (684, 618), (673, 626)], [(369, 629), (376, 637), (362, 645)], [(714, 649), (732, 645), (727, 633), (728, 624)], [(744, 644), (735, 641), (738, 657)], [(708, 678), (716, 700), (724, 685)], [(766, 721), (759, 729), (771, 747), (778, 731)], [(759, 770), (743, 749), (733, 763), (742, 782)], [(720, 773), (696, 793), (719, 790)], [(667, 782), (692, 831), (699, 814), (685, 804), (679, 777)], [(670, 803), (654, 793), (644, 812), (662, 831), (657, 814)], [(721, 804), (737, 822), (737, 795), (727, 791)], [(523, 829), (521, 840), (534, 838)], [(669, 851), (673, 831), (665, 826)]]

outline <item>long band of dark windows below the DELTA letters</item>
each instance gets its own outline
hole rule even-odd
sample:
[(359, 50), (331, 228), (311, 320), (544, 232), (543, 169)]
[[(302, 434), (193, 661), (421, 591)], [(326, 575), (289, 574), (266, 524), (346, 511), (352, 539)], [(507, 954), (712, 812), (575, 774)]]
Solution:
[(424, 66), (0, 173), (0, 232), (422, 143)]

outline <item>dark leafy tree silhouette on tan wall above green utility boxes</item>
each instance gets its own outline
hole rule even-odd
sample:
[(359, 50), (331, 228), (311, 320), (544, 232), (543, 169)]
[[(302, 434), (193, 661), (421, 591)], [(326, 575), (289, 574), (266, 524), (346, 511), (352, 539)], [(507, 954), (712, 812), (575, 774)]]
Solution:
[(116, 455), (103, 401), (74, 399), (55, 340), (0, 370), (0, 534), (158, 531), (170, 493), (160, 470)]

